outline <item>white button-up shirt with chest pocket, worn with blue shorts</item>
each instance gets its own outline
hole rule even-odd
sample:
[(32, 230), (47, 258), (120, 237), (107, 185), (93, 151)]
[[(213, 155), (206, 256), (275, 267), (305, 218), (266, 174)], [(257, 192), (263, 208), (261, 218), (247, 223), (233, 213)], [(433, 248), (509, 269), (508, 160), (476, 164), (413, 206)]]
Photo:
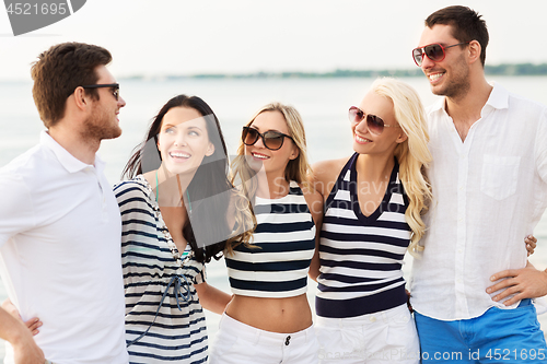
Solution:
[(508, 308), (486, 289), (493, 273), (525, 267), (524, 237), (547, 206), (547, 107), (494, 84), (462, 141), (444, 102), (428, 110), (434, 199), (414, 260), (411, 304), (456, 320)]

